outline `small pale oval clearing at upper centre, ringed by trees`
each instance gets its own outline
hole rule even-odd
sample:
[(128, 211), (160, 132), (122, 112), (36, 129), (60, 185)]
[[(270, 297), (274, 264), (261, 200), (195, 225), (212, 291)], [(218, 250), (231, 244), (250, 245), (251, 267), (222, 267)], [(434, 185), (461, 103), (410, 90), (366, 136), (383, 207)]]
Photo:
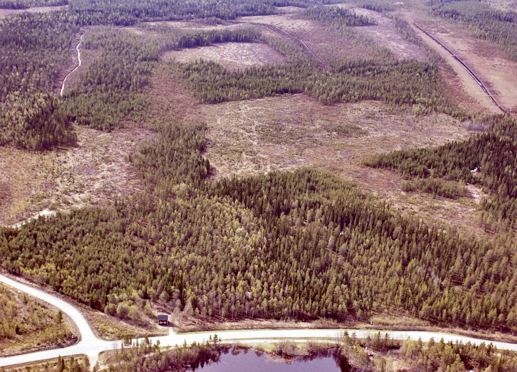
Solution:
[(284, 60), (282, 54), (276, 52), (265, 43), (244, 42), (227, 42), (201, 46), (199, 48), (182, 49), (167, 52), (162, 58), (177, 62), (190, 62), (199, 59), (212, 60), (231, 70), (280, 63)]

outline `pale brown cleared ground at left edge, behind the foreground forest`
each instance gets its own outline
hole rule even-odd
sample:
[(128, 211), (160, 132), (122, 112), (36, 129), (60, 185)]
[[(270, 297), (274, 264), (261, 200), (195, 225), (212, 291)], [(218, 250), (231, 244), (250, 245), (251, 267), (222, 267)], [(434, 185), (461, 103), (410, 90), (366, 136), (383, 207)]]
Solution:
[(142, 190), (127, 159), (156, 133), (129, 128), (110, 133), (77, 127), (78, 147), (28, 152), (0, 147), (0, 224), (51, 211), (111, 204)]

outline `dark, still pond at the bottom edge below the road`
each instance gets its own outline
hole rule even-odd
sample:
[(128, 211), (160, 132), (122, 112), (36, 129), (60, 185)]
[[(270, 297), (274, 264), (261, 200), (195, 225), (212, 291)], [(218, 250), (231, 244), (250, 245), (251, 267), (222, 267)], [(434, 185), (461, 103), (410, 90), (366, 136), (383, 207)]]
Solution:
[(348, 372), (354, 370), (346, 360), (332, 352), (318, 352), (310, 357), (289, 361), (248, 349), (223, 351), (216, 362), (193, 369), (196, 372)]

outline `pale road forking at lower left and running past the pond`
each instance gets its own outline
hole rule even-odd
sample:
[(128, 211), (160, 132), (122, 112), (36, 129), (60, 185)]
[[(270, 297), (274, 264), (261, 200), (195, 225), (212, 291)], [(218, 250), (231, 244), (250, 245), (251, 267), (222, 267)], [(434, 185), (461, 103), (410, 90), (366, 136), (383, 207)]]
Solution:
[[(13, 364), (27, 363), (32, 361), (39, 361), (45, 359), (55, 359), (59, 355), (62, 357), (66, 355), (78, 355), (86, 354), (90, 360), (92, 367), (97, 362), (98, 354), (104, 350), (110, 350), (113, 348), (120, 348), (122, 342), (118, 341), (105, 341), (97, 338), (90, 329), (88, 322), (84, 316), (79, 312), (77, 308), (71, 304), (49, 295), (49, 293), (43, 292), (39, 289), (21, 284), (17, 281), (13, 281), (10, 278), (0, 275), (0, 282), (8, 284), (21, 291), (27, 292), (29, 295), (37, 297), (43, 301), (47, 301), (54, 306), (62, 309), (63, 313), (67, 314), (78, 326), (81, 332), (81, 340), (72, 346), (53, 350), (44, 350), (34, 353), (27, 353), (22, 355), (16, 355), (13, 357), (0, 358), (0, 366), (8, 366)], [(377, 333), (377, 330), (347, 330), (349, 333), (356, 332), (358, 337), (367, 337)], [(197, 332), (197, 333), (182, 333), (176, 334), (171, 332), (168, 336), (157, 336), (151, 337), (150, 340), (153, 343), (160, 342), (160, 346), (174, 346), (181, 345), (184, 341), (187, 344), (195, 342), (203, 342), (207, 340), (210, 335), (218, 334), (219, 338), (223, 342), (231, 342), (232, 340), (249, 340), (249, 342), (264, 342), (267, 340), (279, 338), (290, 338), (294, 340), (308, 340), (314, 338), (330, 338), (338, 337), (343, 332), (342, 329), (287, 329), (287, 330), (235, 330), (235, 331), (218, 331), (218, 332)], [(498, 349), (517, 350), (517, 344), (503, 343), (503, 342), (491, 342), (490, 340), (483, 340), (479, 338), (472, 338), (460, 335), (454, 335), (449, 333), (439, 332), (422, 332), (422, 331), (381, 331), (383, 334), (388, 333), (391, 338), (394, 339), (406, 339), (408, 337), (412, 339), (422, 338), (424, 342), (428, 341), (431, 337), (435, 340), (444, 338), (446, 342), (456, 340), (463, 343), (480, 344), (492, 343)]]

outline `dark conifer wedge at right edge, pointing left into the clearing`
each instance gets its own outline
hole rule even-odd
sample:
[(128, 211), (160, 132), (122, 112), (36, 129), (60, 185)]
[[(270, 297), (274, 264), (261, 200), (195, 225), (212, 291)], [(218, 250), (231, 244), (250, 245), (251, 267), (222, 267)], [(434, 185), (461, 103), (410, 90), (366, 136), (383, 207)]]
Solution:
[[(515, 120), (499, 115), (487, 119), (491, 129), (464, 142), (434, 148), (402, 150), (364, 161), (372, 167), (397, 169), (404, 177), (448, 180), (482, 185), (490, 198), (481, 207), (485, 228), (517, 228), (517, 131)], [(479, 173), (481, 176), (479, 177)]]

